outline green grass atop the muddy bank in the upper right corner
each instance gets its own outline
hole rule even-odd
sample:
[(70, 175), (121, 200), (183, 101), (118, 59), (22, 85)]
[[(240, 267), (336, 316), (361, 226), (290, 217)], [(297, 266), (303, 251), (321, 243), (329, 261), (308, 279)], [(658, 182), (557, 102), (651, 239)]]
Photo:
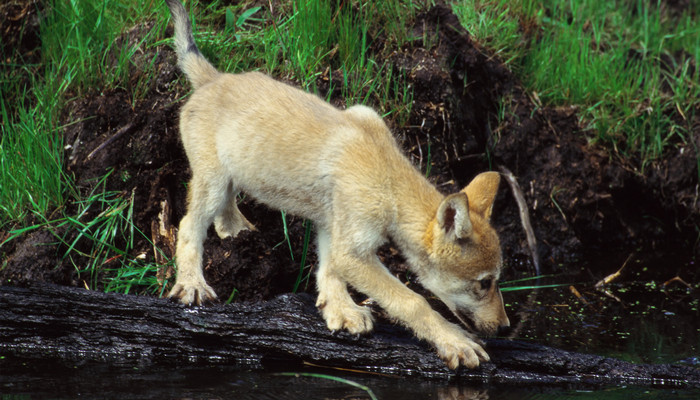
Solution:
[(534, 97), (577, 106), (590, 138), (640, 170), (689, 140), (700, 105), (700, 25), (690, 13), (638, 0), (470, 0), (454, 9)]

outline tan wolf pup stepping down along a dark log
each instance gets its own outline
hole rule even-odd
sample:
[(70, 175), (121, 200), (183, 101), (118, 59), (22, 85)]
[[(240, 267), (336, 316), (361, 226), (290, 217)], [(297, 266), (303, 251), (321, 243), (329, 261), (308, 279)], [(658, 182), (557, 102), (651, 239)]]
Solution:
[(180, 114), (192, 180), (169, 297), (188, 305), (216, 299), (202, 273), (202, 243), (212, 222), (222, 238), (255, 229), (236, 206), (243, 191), (314, 222), (316, 305), (328, 329), (372, 330), (372, 314), (355, 304), (350, 285), (435, 346), (450, 368), (488, 361), (475, 336), (392, 276), (376, 252), (392, 239), (423, 286), (465, 326), (484, 334), (508, 326), (498, 289), (500, 244), (489, 223), (498, 173), (443, 196), (376, 112), (338, 110), (258, 72), (218, 72), (197, 49), (183, 5), (166, 2), (178, 65), (195, 89)]

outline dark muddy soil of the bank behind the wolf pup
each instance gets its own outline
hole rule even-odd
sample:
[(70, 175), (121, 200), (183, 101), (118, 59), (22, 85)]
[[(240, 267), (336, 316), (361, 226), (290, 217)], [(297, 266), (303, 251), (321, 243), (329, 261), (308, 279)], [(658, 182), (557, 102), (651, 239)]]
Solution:
[[(3, 47), (5, 52), (14, 48), (35, 54), (40, 50), (38, 40), (11, 40), (18, 29), (16, 21), (37, 14), (35, 3), (20, 3), (0, 6)], [(36, 24), (23, 29), (30, 31), (26, 37), (31, 38), (31, 32), (38, 35)], [(400, 49), (384, 49), (381, 38), (373, 45), (374, 51), (391, 54), (389, 62), (414, 89), (410, 120), (403, 127), (388, 121), (393, 132), (417, 167), (425, 170), (430, 160), (430, 179), (444, 193), (458, 190), (484, 170), (505, 167), (512, 171), (530, 207), (544, 272), (592, 253), (623, 259), (633, 250), (683, 252), (689, 257), (698, 253), (698, 117), (687, 143), (670, 146), (641, 173), (634, 160), (622, 161), (589, 143), (575, 108), (539, 104), (497, 57), (472, 40), (449, 8), (436, 5), (419, 14), (407, 29), (414, 37), (430, 37), (430, 46), (416, 40)], [(134, 40), (143, 32), (144, 27), (127, 30), (122, 40)], [(84, 193), (112, 171), (105, 187), (134, 196), (136, 225), (172, 257), (189, 179), (177, 128), (178, 110), (189, 86), (175, 68), (171, 48), (144, 49), (140, 59), (150, 60), (154, 55), (157, 73), (145, 98), (134, 99), (128, 90), (105, 90), (66, 105), (62, 115), (65, 169)], [(134, 60), (134, 79), (142, 64)], [(322, 80), (320, 77), (318, 84), (321, 91)], [(337, 94), (331, 97), (338, 99)], [(500, 104), (508, 110), (501, 121), (496, 117)], [(288, 217), (292, 260), (289, 247), (282, 243), (280, 213), (249, 198), (243, 199), (240, 208), (258, 231), (220, 240), (210, 230), (205, 243), (208, 282), (224, 299), (234, 289), (240, 300), (267, 299), (290, 291), (299, 274), (303, 221)], [(530, 270), (519, 211), (505, 184), (493, 223), (510, 267), (507, 274)], [(56, 234), (75, 235), (37, 231), (4, 243), (0, 282), (82, 285), (85, 278), (62, 258), (66, 249), (56, 244)], [(0, 232), (0, 238), (3, 236)], [(135, 253), (162, 261), (146, 240), (135, 247)], [(391, 245), (380, 256), (393, 270), (405, 270), (403, 259)], [(311, 254), (311, 269), (315, 263)], [(313, 288), (311, 281), (306, 290)]]

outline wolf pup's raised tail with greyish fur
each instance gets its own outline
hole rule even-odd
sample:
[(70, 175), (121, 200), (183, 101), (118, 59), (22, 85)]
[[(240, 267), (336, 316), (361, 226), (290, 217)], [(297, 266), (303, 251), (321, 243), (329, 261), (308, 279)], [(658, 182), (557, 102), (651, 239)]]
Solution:
[(190, 17), (180, 0), (165, 0), (165, 2), (168, 4), (175, 25), (175, 52), (178, 66), (192, 82), (192, 86), (197, 89), (214, 80), (219, 72), (204, 58), (194, 43)]

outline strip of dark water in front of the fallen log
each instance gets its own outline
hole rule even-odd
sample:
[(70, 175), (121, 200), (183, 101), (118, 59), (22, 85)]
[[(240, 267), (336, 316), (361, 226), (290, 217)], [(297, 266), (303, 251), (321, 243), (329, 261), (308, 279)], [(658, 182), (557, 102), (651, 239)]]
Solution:
[[(697, 399), (697, 391), (646, 388), (574, 390), (557, 387), (455, 385), (444, 381), (391, 378), (370, 374), (324, 373), (369, 387), (380, 400), (617, 400)], [(117, 368), (103, 364), (66, 365), (0, 357), (1, 399), (235, 399), (349, 400), (369, 399), (357, 387), (329, 379), (280, 376), (227, 367)]]

